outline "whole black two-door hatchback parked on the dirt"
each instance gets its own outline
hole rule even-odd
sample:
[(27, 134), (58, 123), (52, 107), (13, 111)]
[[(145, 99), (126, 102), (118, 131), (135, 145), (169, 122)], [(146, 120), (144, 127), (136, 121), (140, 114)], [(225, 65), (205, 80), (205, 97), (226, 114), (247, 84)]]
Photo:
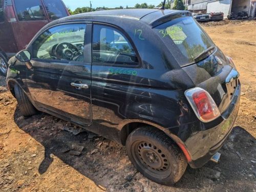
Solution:
[(44, 111), (121, 143), (170, 185), (222, 147), (238, 77), (190, 12), (125, 9), (49, 23), (10, 59), (7, 85), (24, 116)]

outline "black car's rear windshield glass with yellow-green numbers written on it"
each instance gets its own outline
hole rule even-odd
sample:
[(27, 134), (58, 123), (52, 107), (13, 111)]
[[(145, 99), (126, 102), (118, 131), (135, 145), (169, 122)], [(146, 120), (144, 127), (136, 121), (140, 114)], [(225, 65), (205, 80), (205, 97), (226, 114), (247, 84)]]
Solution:
[(195, 63), (198, 59), (207, 57), (207, 53), (215, 49), (214, 43), (193, 17), (181, 17), (168, 21), (156, 27), (155, 30), (180, 66)]

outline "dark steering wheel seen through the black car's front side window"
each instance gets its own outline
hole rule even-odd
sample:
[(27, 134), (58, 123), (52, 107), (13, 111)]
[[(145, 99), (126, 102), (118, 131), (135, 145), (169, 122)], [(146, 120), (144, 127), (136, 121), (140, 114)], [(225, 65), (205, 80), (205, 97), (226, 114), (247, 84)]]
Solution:
[(55, 56), (58, 59), (73, 60), (74, 57), (80, 55), (77, 47), (71, 43), (59, 43), (55, 48)]

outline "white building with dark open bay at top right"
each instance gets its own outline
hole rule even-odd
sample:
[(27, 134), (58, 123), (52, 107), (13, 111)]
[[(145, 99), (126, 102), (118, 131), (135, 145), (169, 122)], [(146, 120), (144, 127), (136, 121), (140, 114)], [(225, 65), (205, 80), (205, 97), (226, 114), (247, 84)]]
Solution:
[(251, 19), (256, 18), (256, 0), (185, 0), (189, 11), (202, 11), (203, 13), (223, 12), (224, 18), (233, 12), (248, 12)]

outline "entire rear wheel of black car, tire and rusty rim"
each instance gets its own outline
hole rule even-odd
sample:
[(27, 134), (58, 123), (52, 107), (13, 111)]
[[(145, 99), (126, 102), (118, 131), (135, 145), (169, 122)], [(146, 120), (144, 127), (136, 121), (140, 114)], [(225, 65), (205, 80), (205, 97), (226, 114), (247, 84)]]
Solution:
[(142, 175), (162, 185), (179, 181), (187, 167), (176, 143), (152, 127), (134, 130), (126, 140), (126, 151)]

